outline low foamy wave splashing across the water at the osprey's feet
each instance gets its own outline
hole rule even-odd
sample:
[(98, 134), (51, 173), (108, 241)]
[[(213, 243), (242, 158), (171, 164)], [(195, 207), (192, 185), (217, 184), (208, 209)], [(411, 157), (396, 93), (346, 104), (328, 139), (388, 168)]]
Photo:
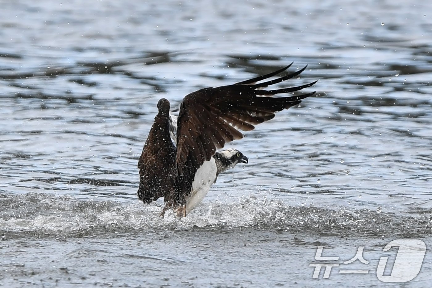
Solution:
[(162, 205), (45, 193), (1, 193), (0, 234), (3, 239), (65, 239), (246, 228), (340, 237), (419, 237), (432, 233), (428, 214), (404, 216), (368, 209), (290, 206), (276, 199), (248, 196), (229, 203), (204, 202), (187, 217), (178, 219), (168, 212), (165, 218), (158, 217)]

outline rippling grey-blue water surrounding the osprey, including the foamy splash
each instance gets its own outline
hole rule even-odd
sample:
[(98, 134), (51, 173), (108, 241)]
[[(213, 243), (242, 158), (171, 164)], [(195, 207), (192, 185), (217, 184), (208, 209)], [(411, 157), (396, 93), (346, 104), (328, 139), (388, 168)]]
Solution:
[[(0, 286), (429, 286), (429, 250), (375, 271), (432, 240), (431, 1), (0, 4)], [(248, 165), (181, 220), (137, 200), (158, 99), (292, 61), (316, 97), (229, 144)], [(313, 279), (318, 246), (369, 273)]]

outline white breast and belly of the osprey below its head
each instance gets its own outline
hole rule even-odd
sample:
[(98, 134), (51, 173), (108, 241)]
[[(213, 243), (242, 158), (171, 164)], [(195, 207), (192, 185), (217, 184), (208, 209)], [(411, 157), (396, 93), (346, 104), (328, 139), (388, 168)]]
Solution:
[(216, 180), (217, 167), (214, 158), (206, 161), (198, 168), (192, 183), (191, 195), (186, 197), (186, 214), (197, 207), (209, 192), (210, 186)]

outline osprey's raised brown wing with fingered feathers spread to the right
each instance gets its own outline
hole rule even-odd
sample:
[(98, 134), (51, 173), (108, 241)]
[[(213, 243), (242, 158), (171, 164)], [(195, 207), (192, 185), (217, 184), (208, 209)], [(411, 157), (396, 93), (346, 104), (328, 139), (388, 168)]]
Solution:
[[(205, 88), (186, 97), (180, 106), (177, 123), (176, 166), (179, 173), (180, 189), (177, 193), (187, 195), (197, 169), (211, 159), (216, 148), (227, 142), (243, 138), (238, 131), (249, 131), (254, 125), (268, 121), (275, 112), (297, 105), (302, 99), (315, 92), (299, 96), (271, 97), (280, 93), (292, 93), (312, 86), (317, 81), (290, 88), (263, 90), (263, 88), (298, 76), (306, 67), (286, 76), (262, 83), (259, 81), (276, 76), (288, 69), (245, 80), (228, 86)], [(181, 195), (176, 202), (181, 203)]]

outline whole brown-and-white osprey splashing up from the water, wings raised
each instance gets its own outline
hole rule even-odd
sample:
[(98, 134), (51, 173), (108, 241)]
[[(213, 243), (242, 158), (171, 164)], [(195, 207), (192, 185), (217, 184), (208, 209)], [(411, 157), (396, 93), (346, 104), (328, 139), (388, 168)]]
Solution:
[(272, 97), (302, 90), (317, 81), (263, 90), (297, 77), (307, 65), (286, 76), (257, 83), (282, 73), (291, 65), (232, 85), (195, 91), (184, 97), (178, 117), (170, 114), (169, 101), (160, 99), (159, 112), (138, 160), (138, 198), (149, 204), (164, 197), (165, 207), (160, 216), (172, 208), (178, 217), (184, 217), (203, 200), (219, 173), (238, 163), (248, 163), (248, 158), (238, 150), (218, 152), (216, 148), (243, 138), (238, 129), (250, 131), (254, 125), (272, 119), (275, 112), (298, 105), (315, 93)]

